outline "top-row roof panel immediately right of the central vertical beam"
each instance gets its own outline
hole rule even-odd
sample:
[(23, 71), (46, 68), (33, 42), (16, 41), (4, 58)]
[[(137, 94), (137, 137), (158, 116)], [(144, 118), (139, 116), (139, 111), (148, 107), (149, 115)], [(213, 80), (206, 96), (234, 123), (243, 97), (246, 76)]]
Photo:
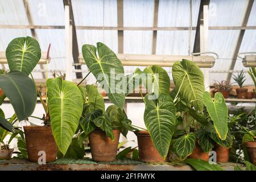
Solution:
[(154, 0), (123, 1), (124, 27), (152, 27)]

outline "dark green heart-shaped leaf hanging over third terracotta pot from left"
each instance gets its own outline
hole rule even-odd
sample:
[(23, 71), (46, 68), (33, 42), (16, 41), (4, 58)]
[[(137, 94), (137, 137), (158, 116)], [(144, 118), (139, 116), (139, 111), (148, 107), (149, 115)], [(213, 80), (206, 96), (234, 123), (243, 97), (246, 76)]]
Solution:
[(174, 101), (164, 93), (159, 94), (158, 100), (150, 100), (150, 96), (152, 93), (144, 98), (144, 122), (155, 148), (166, 158), (176, 125)]

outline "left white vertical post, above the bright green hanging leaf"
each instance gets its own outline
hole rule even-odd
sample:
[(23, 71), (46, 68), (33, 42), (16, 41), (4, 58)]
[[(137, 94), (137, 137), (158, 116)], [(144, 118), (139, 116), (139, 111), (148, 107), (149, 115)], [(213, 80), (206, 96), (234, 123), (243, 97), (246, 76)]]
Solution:
[(69, 6), (65, 5), (65, 80), (72, 81), (72, 25), (69, 18)]

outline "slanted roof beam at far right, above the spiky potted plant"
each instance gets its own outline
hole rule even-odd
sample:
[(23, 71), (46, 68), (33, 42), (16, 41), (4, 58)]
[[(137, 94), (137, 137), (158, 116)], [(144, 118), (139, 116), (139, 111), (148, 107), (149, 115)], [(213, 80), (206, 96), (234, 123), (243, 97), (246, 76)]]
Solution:
[[(249, 17), (250, 17), (250, 13), (251, 13), (251, 8), (253, 7), (253, 2), (254, 0), (249, 0), (248, 2), (248, 5), (247, 5), (247, 8), (246, 8), (246, 13), (245, 13), (245, 16), (243, 18), (243, 23), (242, 23), (242, 26), (246, 27), (247, 26), (247, 22), (249, 20)], [(229, 70), (233, 70), (234, 69), (234, 66), (236, 65), (236, 61), (237, 61), (237, 54), (240, 50), (240, 47), (241, 47), (241, 44), (242, 44), (242, 40), (243, 40), (243, 35), (245, 35), (245, 30), (241, 30), (240, 31), (240, 34), (238, 36), (238, 40), (237, 40), (237, 46), (236, 46), (236, 49), (234, 51), (234, 54), (233, 54), (233, 57), (232, 57), (232, 62), (231, 62), (231, 65), (229, 67)], [(228, 77), (227, 77), (227, 81), (230, 81), (232, 78), (232, 73), (229, 73), (228, 74)]]

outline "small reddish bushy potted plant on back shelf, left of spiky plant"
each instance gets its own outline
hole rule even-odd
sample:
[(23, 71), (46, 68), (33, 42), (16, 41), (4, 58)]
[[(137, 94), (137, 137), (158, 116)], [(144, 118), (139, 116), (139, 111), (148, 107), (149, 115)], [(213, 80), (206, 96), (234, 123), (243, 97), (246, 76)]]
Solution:
[(224, 98), (228, 98), (232, 85), (229, 81), (222, 80), (221, 82), (214, 81), (212, 86), (214, 88), (212, 91), (213, 97), (216, 92), (221, 92)]

